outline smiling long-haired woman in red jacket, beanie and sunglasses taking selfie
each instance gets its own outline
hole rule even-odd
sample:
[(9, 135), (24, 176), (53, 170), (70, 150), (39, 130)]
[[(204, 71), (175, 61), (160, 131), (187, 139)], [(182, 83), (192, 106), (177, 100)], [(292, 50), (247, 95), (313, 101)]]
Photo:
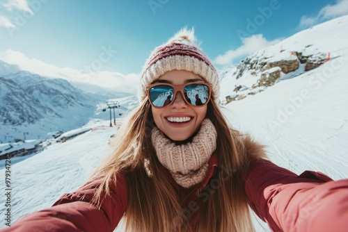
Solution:
[(3, 231), (113, 231), (122, 217), (129, 231), (254, 231), (249, 206), (272, 231), (345, 231), (348, 181), (266, 160), (218, 96), (216, 69), (183, 29), (145, 63), (141, 103), (90, 181)]

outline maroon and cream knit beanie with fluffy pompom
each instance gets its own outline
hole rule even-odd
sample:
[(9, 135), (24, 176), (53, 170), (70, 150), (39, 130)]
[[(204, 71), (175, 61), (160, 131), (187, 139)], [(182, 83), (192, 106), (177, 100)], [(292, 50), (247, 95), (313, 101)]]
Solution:
[(146, 97), (146, 88), (159, 76), (171, 70), (187, 70), (212, 84), (212, 99), (219, 101), (219, 77), (209, 58), (196, 44), (193, 28), (182, 28), (173, 38), (155, 48), (141, 72), (139, 98)]

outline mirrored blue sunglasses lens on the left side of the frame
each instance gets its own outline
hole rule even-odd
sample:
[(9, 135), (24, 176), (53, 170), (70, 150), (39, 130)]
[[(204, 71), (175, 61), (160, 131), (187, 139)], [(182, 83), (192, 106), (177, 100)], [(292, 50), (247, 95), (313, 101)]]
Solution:
[(173, 100), (174, 89), (169, 85), (156, 85), (150, 88), (149, 96), (154, 106), (167, 106)]

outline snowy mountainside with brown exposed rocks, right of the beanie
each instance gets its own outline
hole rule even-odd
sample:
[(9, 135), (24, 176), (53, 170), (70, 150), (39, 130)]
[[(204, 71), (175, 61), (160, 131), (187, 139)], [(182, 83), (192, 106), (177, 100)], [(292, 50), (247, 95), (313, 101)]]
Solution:
[(294, 78), (348, 53), (347, 17), (333, 19), (261, 49), (219, 71), (222, 104), (258, 94), (280, 81)]

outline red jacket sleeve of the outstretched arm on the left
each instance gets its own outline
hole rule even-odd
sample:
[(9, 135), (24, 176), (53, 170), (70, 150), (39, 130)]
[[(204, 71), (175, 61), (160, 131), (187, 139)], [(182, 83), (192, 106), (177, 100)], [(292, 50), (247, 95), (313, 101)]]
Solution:
[(99, 209), (90, 201), (100, 182), (92, 179), (76, 192), (63, 194), (51, 208), (26, 215), (0, 231), (113, 231), (127, 208), (127, 183), (118, 176), (110, 194), (102, 194)]

